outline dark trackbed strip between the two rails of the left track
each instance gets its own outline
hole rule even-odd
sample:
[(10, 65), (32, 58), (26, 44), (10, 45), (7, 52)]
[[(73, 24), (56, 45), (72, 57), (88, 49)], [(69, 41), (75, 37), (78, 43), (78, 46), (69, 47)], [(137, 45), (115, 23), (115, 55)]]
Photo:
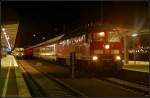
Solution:
[(33, 67), (27, 64), (23, 64), (23, 67), (28, 70), (28, 72), (31, 74), (31, 77), (37, 82), (47, 96), (74, 96), (74, 94), (68, 92), (53, 80), (48, 79)]

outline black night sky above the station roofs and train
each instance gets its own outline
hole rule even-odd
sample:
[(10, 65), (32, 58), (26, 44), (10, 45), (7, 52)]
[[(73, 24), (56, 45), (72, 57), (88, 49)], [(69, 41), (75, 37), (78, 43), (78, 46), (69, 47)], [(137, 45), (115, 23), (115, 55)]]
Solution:
[[(10, 15), (16, 13), (17, 15)], [(2, 23), (19, 20), (16, 47), (28, 47), (90, 22), (147, 26), (147, 2), (2, 2)], [(36, 34), (34, 37), (33, 34)], [(45, 39), (43, 38), (45, 37)]]

